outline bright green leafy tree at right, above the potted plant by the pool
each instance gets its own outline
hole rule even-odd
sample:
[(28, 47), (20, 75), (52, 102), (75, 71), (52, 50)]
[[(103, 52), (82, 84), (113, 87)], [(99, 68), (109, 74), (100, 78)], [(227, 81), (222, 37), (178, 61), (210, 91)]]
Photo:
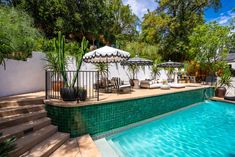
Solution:
[(201, 66), (207, 66), (213, 72), (213, 66), (218, 60), (223, 60), (228, 53), (227, 42), (229, 28), (217, 23), (199, 25), (190, 35), (190, 55)]

